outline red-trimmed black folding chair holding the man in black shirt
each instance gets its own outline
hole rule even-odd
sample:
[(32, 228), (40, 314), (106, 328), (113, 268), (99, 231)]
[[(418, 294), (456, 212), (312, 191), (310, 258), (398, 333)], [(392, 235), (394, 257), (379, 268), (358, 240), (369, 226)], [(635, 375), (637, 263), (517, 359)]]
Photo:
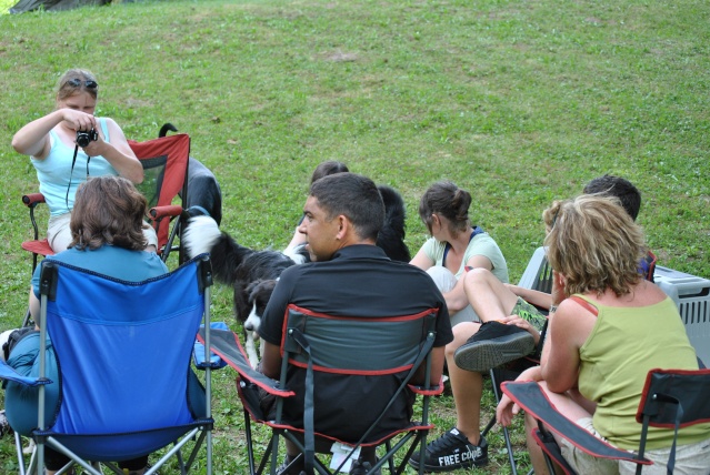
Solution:
[[(239, 373), (237, 388), (244, 407), (250, 474), (276, 473), (280, 437), (299, 447), (303, 459), (299, 456), (294, 462), (303, 463), (309, 474), (347, 473), (348, 458), (359, 447), (380, 447), (372, 473), (388, 464), (390, 473), (401, 474), (417, 448), (423, 457), (427, 434), (433, 427), (428, 420), (429, 398), (441, 394), (443, 385), (413, 386), (410, 381), (423, 363), (424, 381), (429, 382), (436, 311), (362, 319), (290, 305), (286, 317), (279, 381), (252, 370), (236, 334), (212, 331), (210, 347)], [(354, 391), (346, 385), (353, 378), (362, 381)], [(341, 391), (343, 387), (349, 390)], [(276, 397), (276, 411), (264, 414), (259, 390)], [(402, 400), (411, 402), (414, 395), (422, 397), (421, 404), (414, 405), (418, 421), (411, 413), (401, 414), (409, 411), (401, 411)], [(344, 411), (344, 401), (350, 407), (354, 402), (358, 410)], [(289, 420), (287, 413), (300, 417)], [(252, 422), (271, 432), (258, 466)], [(349, 435), (339, 434), (343, 428)], [(333, 457), (329, 467), (319, 447), (333, 443), (342, 444), (342, 458)], [(393, 458), (400, 449), (407, 453), (396, 468)], [(423, 466), (422, 461), (420, 473)]]

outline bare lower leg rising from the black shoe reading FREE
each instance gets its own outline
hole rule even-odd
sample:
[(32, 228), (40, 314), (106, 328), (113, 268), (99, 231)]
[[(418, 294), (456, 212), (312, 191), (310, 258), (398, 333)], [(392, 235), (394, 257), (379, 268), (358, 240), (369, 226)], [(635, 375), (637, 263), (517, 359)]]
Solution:
[(480, 329), (479, 323), (464, 322), (453, 327), (453, 341), (446, 347), (447, 365), (453, 404), (456, 405), (456, 427), (466, 435), (473, 445), (479, 444), (481, 436), (481, 395), (483, 393), (483, 376), (461, 370), (453, 362), (453, 353)]

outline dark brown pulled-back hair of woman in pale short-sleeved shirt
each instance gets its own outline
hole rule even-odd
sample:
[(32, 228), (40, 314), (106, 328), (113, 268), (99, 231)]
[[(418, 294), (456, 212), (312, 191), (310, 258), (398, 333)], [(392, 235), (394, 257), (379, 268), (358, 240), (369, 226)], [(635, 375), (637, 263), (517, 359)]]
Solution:
[(431, 232), (431, 215), (439, 213), (451, 223), (451, 232), (466, 231), (470, 224), (471, 194), (450, 181), (439, 181), (429, 186), (419, 201), (419, 218)]

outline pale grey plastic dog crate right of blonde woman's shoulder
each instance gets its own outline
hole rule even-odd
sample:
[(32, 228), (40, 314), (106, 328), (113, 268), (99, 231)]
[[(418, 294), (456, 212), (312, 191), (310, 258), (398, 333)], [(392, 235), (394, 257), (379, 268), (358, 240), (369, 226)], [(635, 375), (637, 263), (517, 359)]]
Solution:
[(660, 265), (653, 280), (678, 305), (690, 343), (710, 367), (710, 281)]

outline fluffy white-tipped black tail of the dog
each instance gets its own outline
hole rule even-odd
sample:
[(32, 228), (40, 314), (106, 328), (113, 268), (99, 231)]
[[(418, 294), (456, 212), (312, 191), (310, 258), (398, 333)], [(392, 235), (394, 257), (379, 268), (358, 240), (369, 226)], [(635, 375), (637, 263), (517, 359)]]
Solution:
[(247, 255), (253, 253), (251, 249), (239, 245), (229, 234), (220, 231), (210, 216), (190, 218), (182, 242), (190, 257), (209, 252), (214, 276), (226, 284), (234, 283), (237, 267)]

